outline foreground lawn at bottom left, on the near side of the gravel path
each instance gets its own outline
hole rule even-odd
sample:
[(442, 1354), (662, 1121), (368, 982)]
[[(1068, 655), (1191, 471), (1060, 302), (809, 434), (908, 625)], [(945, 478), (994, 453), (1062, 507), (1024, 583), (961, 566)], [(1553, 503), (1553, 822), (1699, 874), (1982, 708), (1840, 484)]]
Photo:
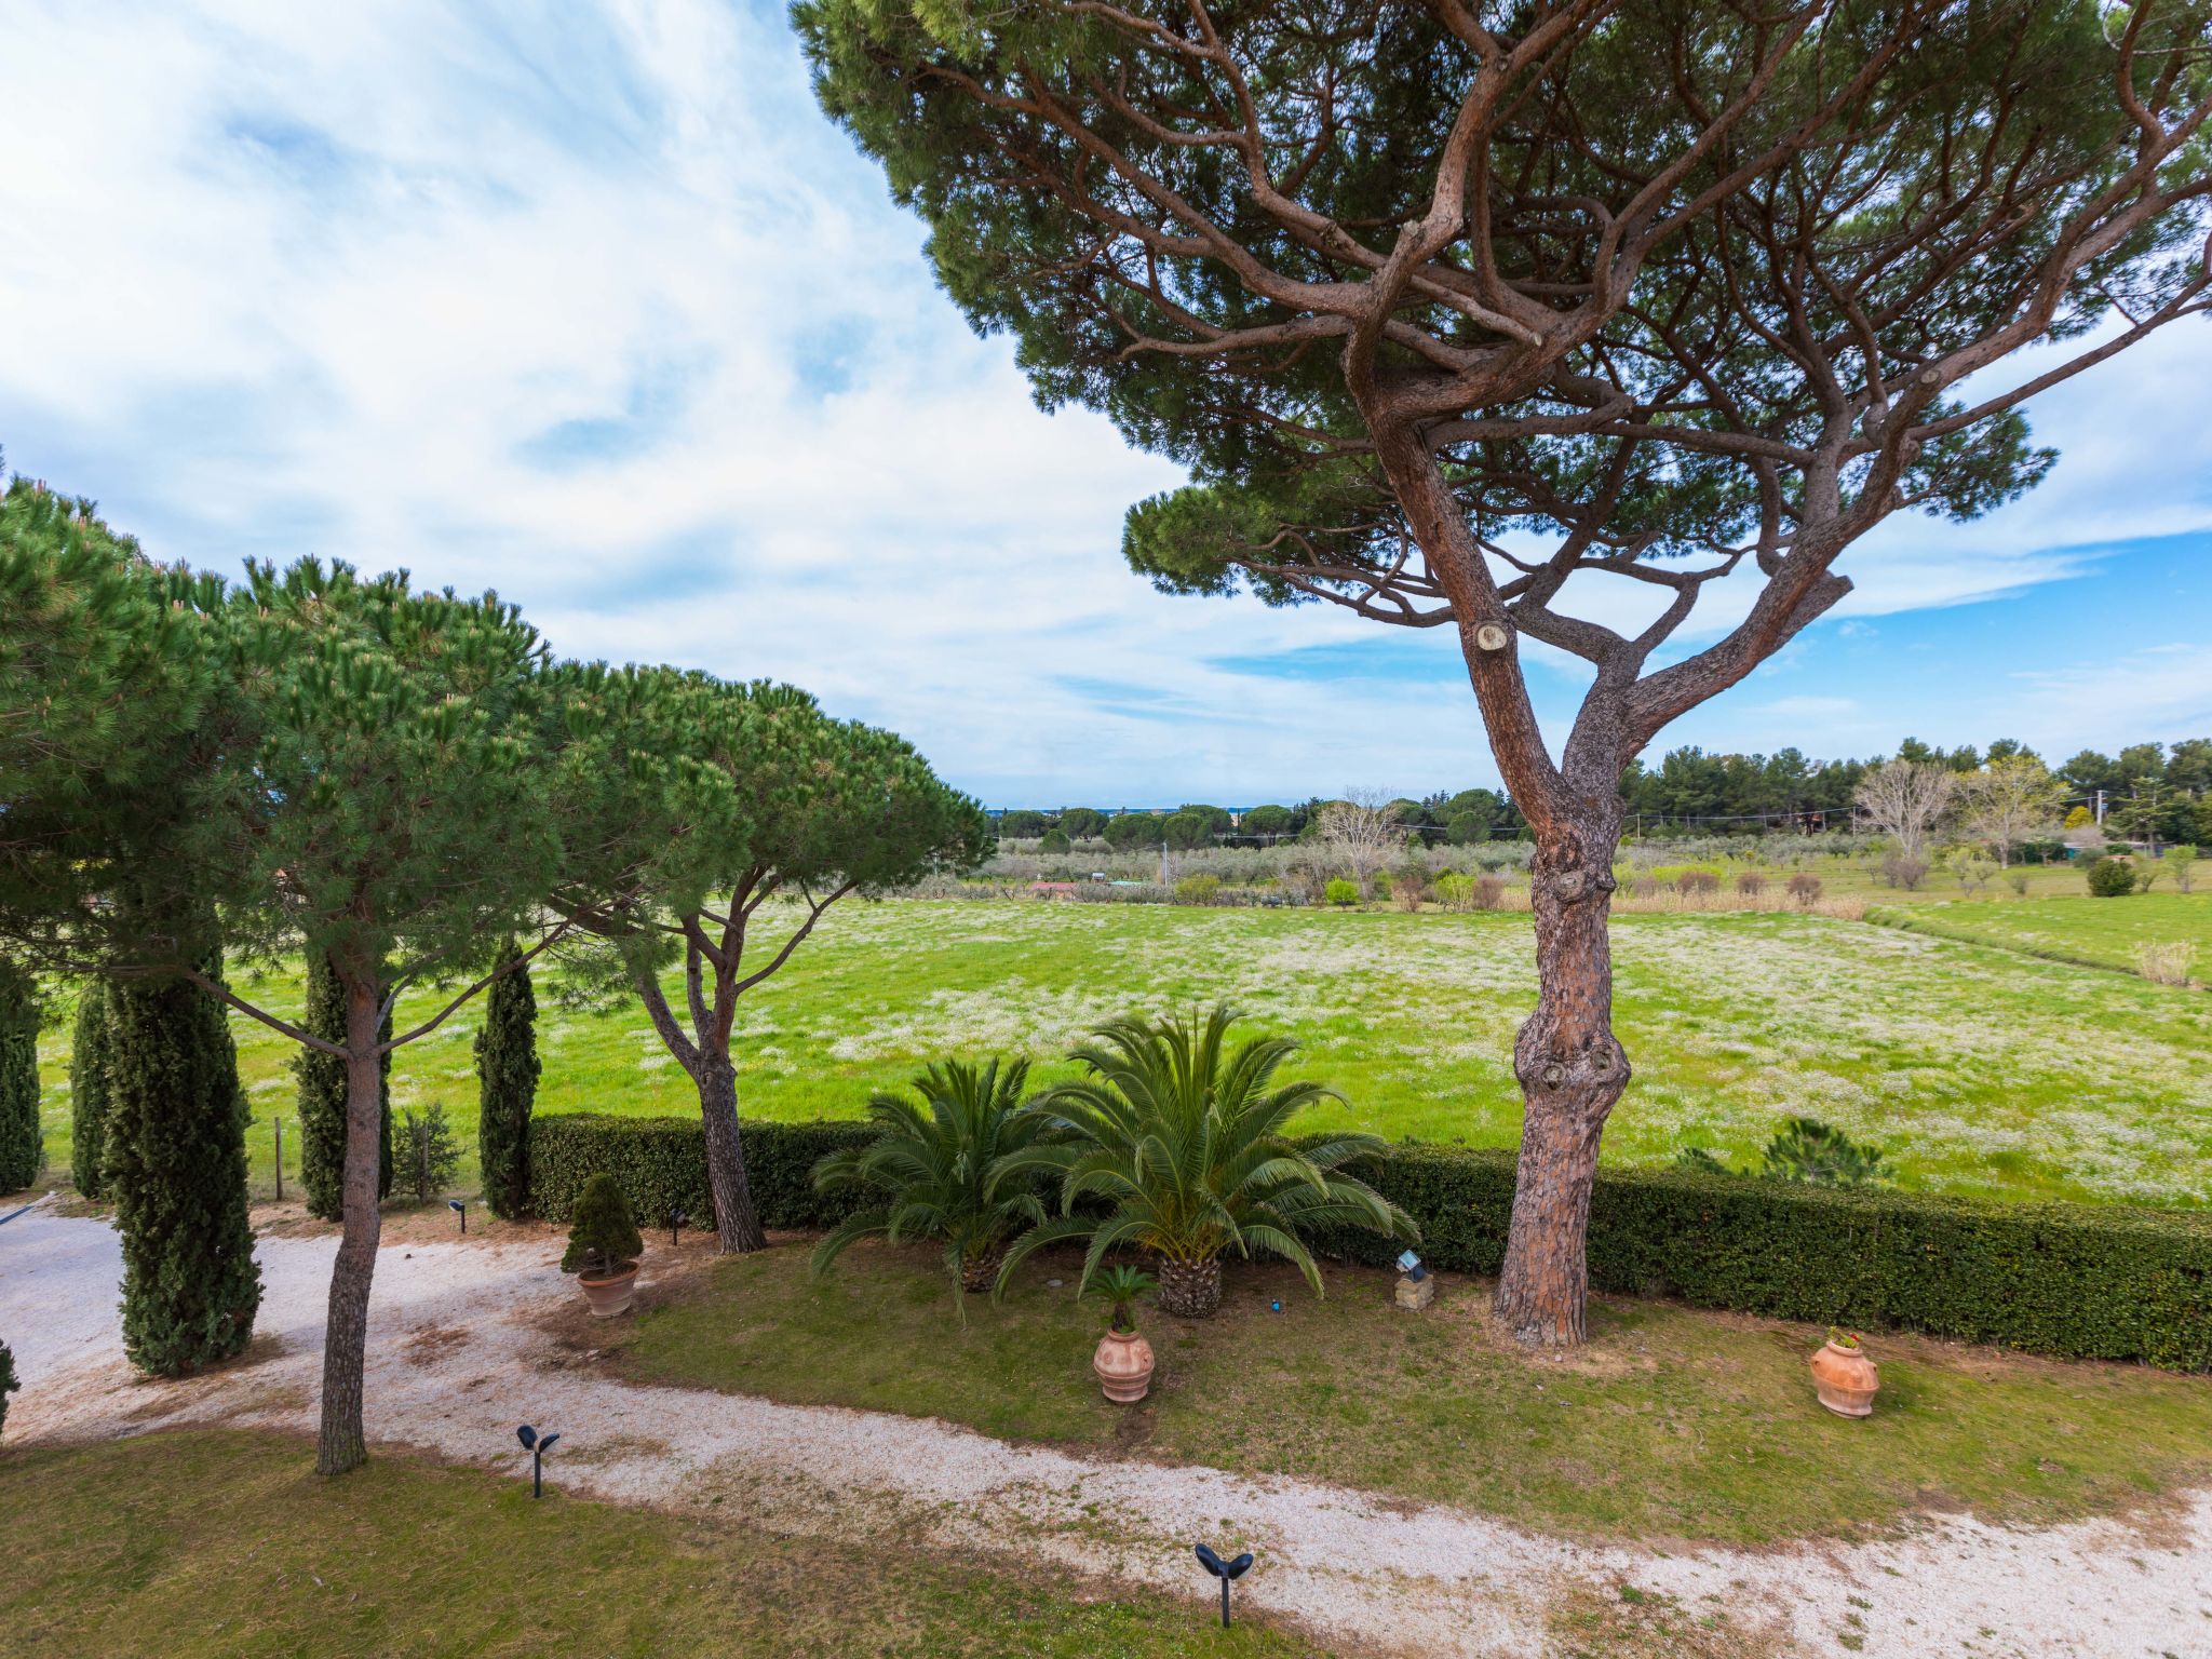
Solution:
[(1314, 1655), (1212, 1604), (790, 1537), (301, 1440), (157, 1433), (0, 1449), (0, 1650), (53, 1655)]

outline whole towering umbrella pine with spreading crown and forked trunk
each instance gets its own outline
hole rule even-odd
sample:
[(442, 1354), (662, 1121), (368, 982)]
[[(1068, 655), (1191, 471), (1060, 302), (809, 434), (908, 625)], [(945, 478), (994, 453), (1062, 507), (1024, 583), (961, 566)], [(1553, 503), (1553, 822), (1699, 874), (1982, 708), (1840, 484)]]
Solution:
[[(2212, 0), (792, 15), (975, 327), (1190, 469), (1135, 568), (1460, 641), (1537, 847), (1498, 1310), (1582, 1340), (1621, 772), (1885, 518), (2033, 484), (2026, 398), (2205, 310)], [(1741, 619), (1663, 650), (1723, 584)], [(1531, 644), (1590, 675), (1557, 750)]]

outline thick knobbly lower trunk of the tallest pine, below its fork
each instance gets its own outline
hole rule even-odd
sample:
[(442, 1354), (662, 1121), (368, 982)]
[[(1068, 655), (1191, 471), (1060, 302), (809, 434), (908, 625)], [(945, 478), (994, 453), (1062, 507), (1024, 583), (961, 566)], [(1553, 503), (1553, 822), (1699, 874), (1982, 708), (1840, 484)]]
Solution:
[(1613, 1037), (1613, 852), (1619, 812), (1586, 812), (1537, 841), (1531, 867), (1537, 1009), (1513, 1044), (1522, 1150), (1498, 1316), (1528, 1345), (1584, 1340), (1590, 1186), (1606, 1115), (1628, 1086)]

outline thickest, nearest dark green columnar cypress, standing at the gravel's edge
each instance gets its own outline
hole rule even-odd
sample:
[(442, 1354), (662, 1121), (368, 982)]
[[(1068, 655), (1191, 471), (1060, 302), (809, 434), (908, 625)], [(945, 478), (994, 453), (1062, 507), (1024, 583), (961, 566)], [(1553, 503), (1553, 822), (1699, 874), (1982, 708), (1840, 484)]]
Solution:
[(111, 987), (108, 1042), (102, 1179), (124, 1241), (124, 1349), (142, 1371), (188, 1376), (243, 1349), (261, 1305), (239, 1055), (223, 1004), (188, 980)]

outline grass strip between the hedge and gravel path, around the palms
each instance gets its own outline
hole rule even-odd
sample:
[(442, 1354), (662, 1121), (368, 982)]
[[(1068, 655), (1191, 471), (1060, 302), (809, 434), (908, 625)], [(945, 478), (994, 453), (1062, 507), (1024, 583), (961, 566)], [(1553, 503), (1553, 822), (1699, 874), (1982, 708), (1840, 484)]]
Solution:
[(1878, 1336), (1876, 1416), (1847, 1422), (1814, 1400), (1812, 1327), (1597, 1298), (1588, 1352), (1542, 1360), (1491, 1332), (1486, 1285), (1447, 1279), (1407, 1314), (1356, 1267), (1327, 1270), (1316, 1301), (1287, 1267), (1232, 1265), (1217, 1318), (1150, 1314), (1155, 1391), (1121, 1409), (1091, 1376), (1102, 1318), (1075, 1270), (1033, 1265), (1002, 1305), (969, 1298), (962, 1325), (927, 1252), (860, 1245), (814, 1283), (785, 1245), (684, 1274), (593, 1340), (650, 1383), (1305, 1475), (1573, 1535), (1763, 1544), (1960, 1504), (2055, 1522), (2212, 1469), (2212, 1378)]

